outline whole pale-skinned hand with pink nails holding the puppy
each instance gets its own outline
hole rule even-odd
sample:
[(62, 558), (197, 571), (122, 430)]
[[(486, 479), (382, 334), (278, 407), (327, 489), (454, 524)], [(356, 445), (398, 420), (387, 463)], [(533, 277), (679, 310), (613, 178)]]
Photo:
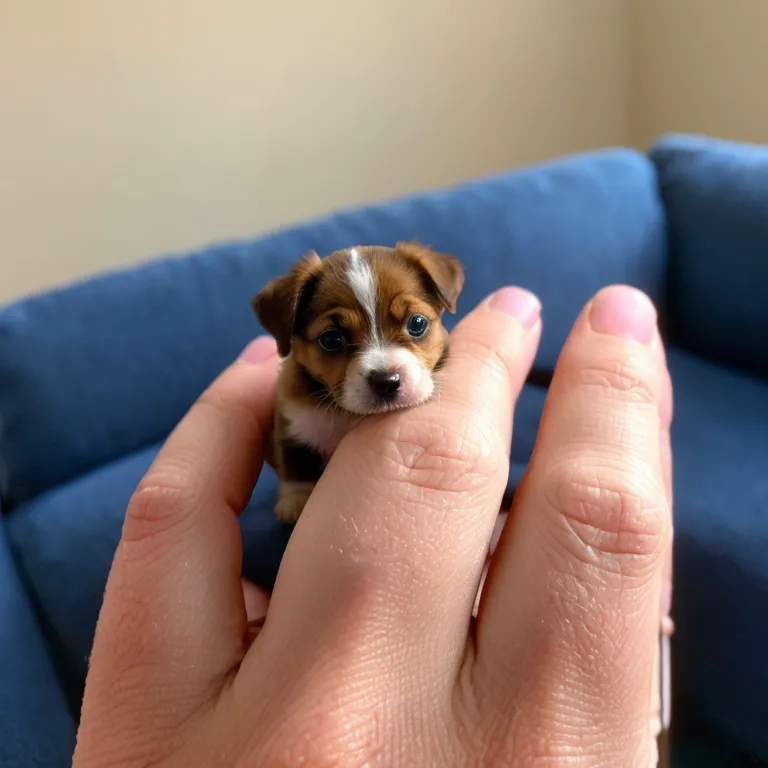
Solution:
[(75, 766), (653, 765), (672, 395), (642, 294), (577, 320), (472, 618), (541, 327), (502, 290), (453, 331), (439, 397), (344, 438), (269, 600), (236, 519), (278, 362), (253, 342), (128, 507)]

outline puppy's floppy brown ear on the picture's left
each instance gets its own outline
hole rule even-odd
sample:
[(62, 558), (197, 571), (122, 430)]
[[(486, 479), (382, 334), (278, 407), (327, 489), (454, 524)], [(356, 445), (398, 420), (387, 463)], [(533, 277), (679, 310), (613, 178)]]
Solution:
[(291, 267), (287, 275), (267, 283), (251, 302), (264, 330), (274, 336), (280, 357), (286, 357), (291, 351), (299, 299), (321, 264), (317, 253), (310, 251)]

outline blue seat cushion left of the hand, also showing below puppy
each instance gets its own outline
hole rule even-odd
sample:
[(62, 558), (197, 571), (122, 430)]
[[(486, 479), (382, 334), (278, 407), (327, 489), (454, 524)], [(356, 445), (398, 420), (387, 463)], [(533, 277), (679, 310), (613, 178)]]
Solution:
[[(14, 556), (45, 614), (71, 699), (79, 702), (104, 587), (130, 496), (159, 446), (107, 464), (17, 507), (6, 517)], [(245, 574), (270, 587), (289, 529), (272, 514), (275, 478), (265, 467), (241, 517)]]

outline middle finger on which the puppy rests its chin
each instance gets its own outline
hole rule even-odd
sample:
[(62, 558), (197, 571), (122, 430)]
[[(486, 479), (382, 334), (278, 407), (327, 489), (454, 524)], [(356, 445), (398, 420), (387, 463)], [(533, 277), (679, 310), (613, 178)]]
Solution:
[(264, 643), (274, 628), (280, 642), (290, 631), (311, 644), (305, 658), (327, 637), (370, 659), (374, 640), (403, 652), (438, 637), (455, 660), (540, 331), (538, 301), (500, 291), (452, 333), (438, 397), (370, 417), (342, 441), (286, 550)]

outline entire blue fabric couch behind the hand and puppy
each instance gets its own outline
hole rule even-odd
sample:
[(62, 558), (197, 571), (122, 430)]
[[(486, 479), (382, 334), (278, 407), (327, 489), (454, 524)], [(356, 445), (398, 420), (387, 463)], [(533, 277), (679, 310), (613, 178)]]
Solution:
[[(0, 310), (0, 765), (69, 763), (126, 502), (260, 332), (251, 296), (310, 248), (412, 237), (465, 262), (463, 311), (503, 283), (542, 298), (542, 369), (601, 286), (656, 300), (676, 388), (676, 764), (768, 761), (768, 148), (670, 136), (649, 155), (565, 158)], [(544, 395), (522, 396), (510, 489)], [(267, 472), (242, 518), (245, 573), (266, 586), (287, 538), (273, 492)]]

